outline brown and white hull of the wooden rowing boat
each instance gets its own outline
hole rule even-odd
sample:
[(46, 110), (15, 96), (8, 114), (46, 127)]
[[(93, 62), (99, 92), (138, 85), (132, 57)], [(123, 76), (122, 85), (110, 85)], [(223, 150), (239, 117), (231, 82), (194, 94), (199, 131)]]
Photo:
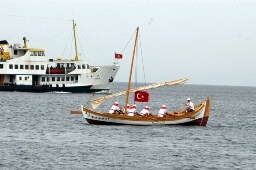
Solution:
[(198, 105), (195, 111), (183, 114), (172, 114), (167, 117), (140, 117), (119, 114), (108, 114), (89, 110), (81, 106), (83, 116), (89, 124), (99, 125), (196, 125), (206, 126), (210, 113), (210, 102)]

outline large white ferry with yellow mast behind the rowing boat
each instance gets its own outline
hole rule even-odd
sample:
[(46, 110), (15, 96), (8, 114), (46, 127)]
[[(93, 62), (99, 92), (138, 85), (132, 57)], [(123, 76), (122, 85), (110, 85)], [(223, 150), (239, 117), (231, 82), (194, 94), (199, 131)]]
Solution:
[(98, 92), (108, 91), (119, 70), (118, 63), (91, 66), (78, 59), (76, 30), (73, 20), (76, 56), (71, 60), (49, 59), (44, 49), (9, 45), (0, 41), (0, 91), (19, 92)]

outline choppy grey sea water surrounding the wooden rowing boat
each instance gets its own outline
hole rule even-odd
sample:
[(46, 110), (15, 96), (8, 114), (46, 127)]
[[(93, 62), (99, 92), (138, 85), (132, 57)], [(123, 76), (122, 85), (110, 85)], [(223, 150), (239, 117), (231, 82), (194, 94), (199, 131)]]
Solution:
[[(125, 88), (115, 83), (112, 92)], [(1, 92), (0, 169), (256, 169), (255, 87), (182, 85), (149, 92), (153, 112), (162, 104), (181, 108), (187, 97), (195, 104), (211, 97), (207, 126), (88, 125), (69, 111), (90, 94)]]

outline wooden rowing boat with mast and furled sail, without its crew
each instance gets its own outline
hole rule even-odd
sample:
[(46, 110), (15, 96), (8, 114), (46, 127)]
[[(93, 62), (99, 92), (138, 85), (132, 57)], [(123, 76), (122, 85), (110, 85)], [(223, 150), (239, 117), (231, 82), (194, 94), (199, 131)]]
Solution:
[[(209, 114), (210, 114), (210, 99), (207, 98), (205, 101), (202, 101), (199, 105), (195, 106), (195, 109), (192, 112), (186, 113), (185, 110), (179, 110), (177, 112), (169, 112), (165, 117), (158, 117), (157, 114), (150, 114), (148, 116), (129, 116), (124, 111), (123, 114), (110, 114), (106, 111), (99, 112), (96, 111), (96, 108), (104, 101), (109, 100), (113, 97), (126, 95), (126, 102), (124, 106), (128, 104), (129, 94), (132, 92), (142, 92), (141, 90), (147, 90), (152, 88), (158, 88), (166, 85), (180, 85), (188, 81), (187, 78), (182, 78), (178, 80), (166, 81), (161, 83), (156, 83), (152, 85), (147, 85), (139, 88), (130, 89), (131, 75), (134, 61), (134, 53), (136, 49), (136, 42), (138, 36), (138, 30), (136, 32), (136, 39), (134, 45), (134, 51), (132, 56), (132, 64), (130, 69), (130, 76), (128, 81), (128, 88), (126, 91), (114, 93), (111, 95), (103, 96), (97, 99), (90, 100), (92, 104), (92, 109), (81, 105), (81, 111), (71, 111), (71, 114), (83, 114), (85, 120), (89, 124), (98, 124), (98, 125), (197, 125), (197, 126), (206, 126)], [(143, 91), (145, 92), (145, 91)], [(136, 95), (135, 95), (136, 96)], [(136, 101), (136, 100), (135, 100)], [(137, 101), (138, 102), (138, 101)], [(141, 101), (147, 102), (147, 101)]]

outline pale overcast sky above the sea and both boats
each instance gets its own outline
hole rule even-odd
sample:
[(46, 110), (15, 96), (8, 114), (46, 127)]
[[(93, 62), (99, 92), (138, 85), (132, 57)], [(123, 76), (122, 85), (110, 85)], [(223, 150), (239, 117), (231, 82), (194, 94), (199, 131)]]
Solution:
[[(0, 39), (45, 49), (48, 58), (112, 64), (127, 82), (134, 32), (138, 82), (189, 78), (187, 84), (256, 86), (256, 1), (249, 0), (0, 0)], [(139, 64), (140, 63), (140, 64)], [(142, 63), (142, 64), (141, 64)], [(144, 71), (143, 71), (144, 70)]]

